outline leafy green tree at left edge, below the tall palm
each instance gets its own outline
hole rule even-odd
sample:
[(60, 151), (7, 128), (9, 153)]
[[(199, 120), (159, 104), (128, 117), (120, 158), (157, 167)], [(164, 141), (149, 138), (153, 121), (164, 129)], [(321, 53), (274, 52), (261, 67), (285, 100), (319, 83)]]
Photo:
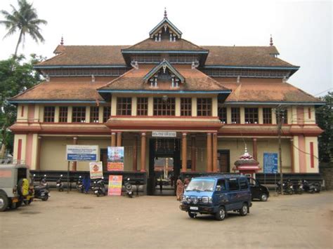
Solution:
[(8, 98), (18, 95), (41, 81), (41, 74), (33, 69), (34, 64), (44, 60), (41, 56), (30, 55), (25, 61), (23, 55), (8, 60), (0, 60), (0, 142), (4, 157), (6, 148), (13, 152), (13, 134), (8, 128), (16, 119), (16, 107), (8, 103)]

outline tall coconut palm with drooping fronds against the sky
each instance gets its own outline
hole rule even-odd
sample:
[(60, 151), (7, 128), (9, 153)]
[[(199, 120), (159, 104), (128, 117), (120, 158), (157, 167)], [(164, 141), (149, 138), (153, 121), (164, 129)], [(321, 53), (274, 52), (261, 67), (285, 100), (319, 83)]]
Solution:
[(41, 20), (38, 18), (36, 9), (29, 4), (27, 0), (18, 0), (18, 10), (11, 5), (12, 11), (0, 11), (4, 15), (6, 20), (0, 20), (0, 24), (5, 25), (8, 29), (8, 33), (4, 36), (10, 36), (15, 32), (19, 31), (18, 43), (16, 44), (14, 58), (18, 53), (18, 46), (20, 43), (24, 45), (25, 35), (29, 34), (34, 41), (37, 43), (39, 41), (44, 42), (44, 37), (41, 36), (39, 25), (46, 25), (46, 20)]

